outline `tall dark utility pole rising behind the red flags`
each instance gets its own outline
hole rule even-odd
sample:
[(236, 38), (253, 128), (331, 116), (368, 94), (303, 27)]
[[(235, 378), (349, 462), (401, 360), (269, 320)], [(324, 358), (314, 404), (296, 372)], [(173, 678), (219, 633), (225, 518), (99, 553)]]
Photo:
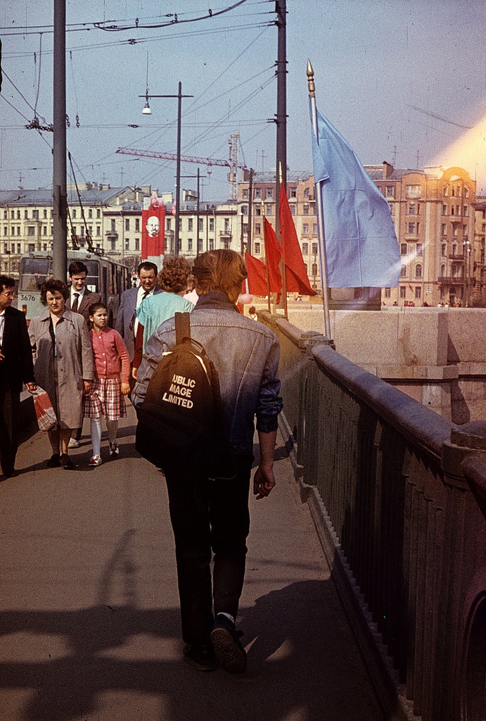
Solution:
[[(275, 229), (280, 238), (280, 185), (287, 188), (287, 1), (276, 0), (275, 12), (278, 27), (276, 59), (276, 180), (275, 180)], [(281, 308), (287, 308), (287, 282), (282, 262)]]

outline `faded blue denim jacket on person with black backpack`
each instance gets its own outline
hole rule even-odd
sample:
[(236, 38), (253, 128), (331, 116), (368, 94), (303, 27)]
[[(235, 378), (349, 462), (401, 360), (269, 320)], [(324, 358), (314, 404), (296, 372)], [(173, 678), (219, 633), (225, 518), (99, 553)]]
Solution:
[[(268, 433), (276, 430), (283, 407), (280, 381), (276, 378), (280, 347), (274, 332), (241, 315), (225, 293), (212, 291), (200, 296), (192, 311), (191, 336), (204, 345), (217, 369), (233, 452), (251, 453), (255, 415), (256, 428)], [(171, 318), (147, 342), (132, 396), (135, 407), (143, 402), (162, 354), (174, 345), (175, 324)]]

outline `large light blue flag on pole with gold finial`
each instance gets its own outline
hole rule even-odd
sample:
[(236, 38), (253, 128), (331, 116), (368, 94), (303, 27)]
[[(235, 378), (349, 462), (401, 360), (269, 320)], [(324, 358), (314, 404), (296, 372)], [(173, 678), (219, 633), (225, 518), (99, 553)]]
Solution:
[(312, 157), (314, 182), (323, 181), (329, 288), (397, 286), (400, 253), (390, 205), (354, 150), (319, 111)]

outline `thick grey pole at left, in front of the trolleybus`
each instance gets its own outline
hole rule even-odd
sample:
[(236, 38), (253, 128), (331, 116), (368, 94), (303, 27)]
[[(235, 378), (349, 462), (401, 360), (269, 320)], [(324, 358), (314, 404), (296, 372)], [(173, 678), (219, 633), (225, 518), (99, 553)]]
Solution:
[(68, 190), (66, 185), (66, 0), (54, 0), (53, 76), (53, 274), (66, 281)]

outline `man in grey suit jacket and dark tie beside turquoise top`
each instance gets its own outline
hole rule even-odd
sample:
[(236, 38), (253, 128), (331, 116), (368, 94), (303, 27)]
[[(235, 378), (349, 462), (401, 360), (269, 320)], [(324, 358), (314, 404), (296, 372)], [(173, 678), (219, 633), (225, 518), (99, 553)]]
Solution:
[(117, 322), (114, 324), (117, 330), (125, 340), (128, 355), (130, 356), (130, 384), (134, 385), (132, 379), (132, 363), (135, 353), (135, 336), (137, 335), (138, 320), (135, 309), (147, 296), (153, 296), (155, 293), (162, 293), (161, 288), (156, 286), (157, 266), (155, 263), (148, 261), (141, 262), (138, 266), (138, 277), (140, 285), (138, 288), (129, 288), (122, 293), (120, 308), (118, 309)]

